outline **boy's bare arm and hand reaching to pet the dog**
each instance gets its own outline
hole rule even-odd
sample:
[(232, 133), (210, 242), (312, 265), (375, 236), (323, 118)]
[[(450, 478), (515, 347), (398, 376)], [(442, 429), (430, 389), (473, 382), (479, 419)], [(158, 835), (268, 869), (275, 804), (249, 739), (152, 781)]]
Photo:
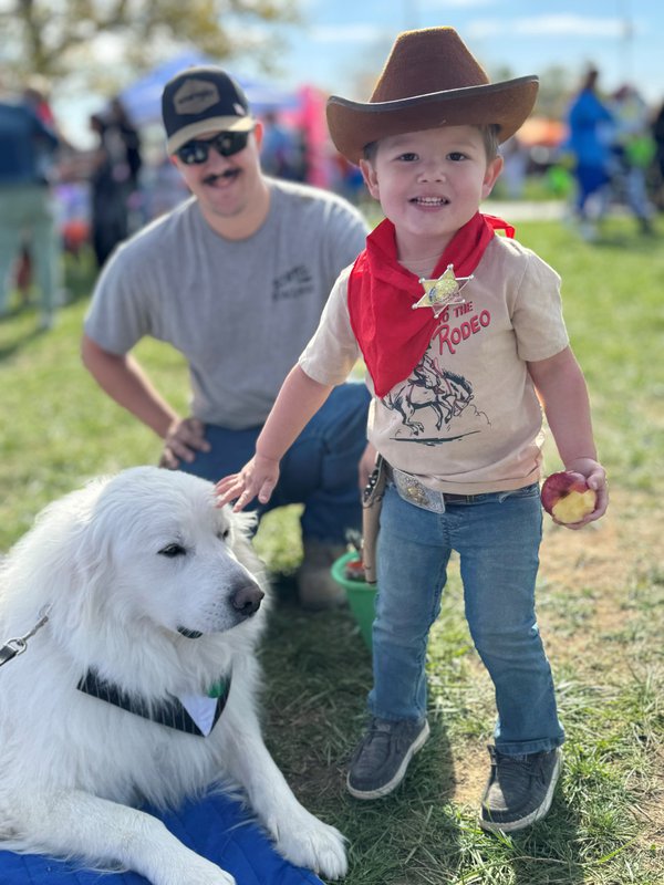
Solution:
[(279, 479), (279, 461), (332, 389), (333, 385), (320, 384), (299, 365), (291, 368), (256, 441), (256, 455), (239, 473), (217, 483), (219, 507), (237, 499), (234, 510), (241, 510), (256, 496), (262, 504), (270, 500)]

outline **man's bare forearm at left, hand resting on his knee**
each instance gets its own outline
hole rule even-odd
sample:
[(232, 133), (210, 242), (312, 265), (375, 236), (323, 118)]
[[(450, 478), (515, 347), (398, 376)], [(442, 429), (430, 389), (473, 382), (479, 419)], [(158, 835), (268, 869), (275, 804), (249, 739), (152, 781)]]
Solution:
[(209, 449), (203, 423), (196, 418), (181, 419), (133, 356), (105, 351), (84, 334), (81, 357), (83, 365), (112, 399), (164, 439), (162, 467), (176, 469), (178, 459), (190, 462), (196, 451)]

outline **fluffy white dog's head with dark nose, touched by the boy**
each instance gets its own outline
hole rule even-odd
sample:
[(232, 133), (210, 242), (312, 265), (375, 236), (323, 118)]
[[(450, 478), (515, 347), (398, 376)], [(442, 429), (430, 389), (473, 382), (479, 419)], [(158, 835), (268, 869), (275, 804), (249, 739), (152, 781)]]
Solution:
[(113, 574), (110, 592), (133, 617), (197, 638), (237, 626), (261, 604), (251, 522), (217, 508), (210, 482), (143, 467), (105, 486), (89, 530)]

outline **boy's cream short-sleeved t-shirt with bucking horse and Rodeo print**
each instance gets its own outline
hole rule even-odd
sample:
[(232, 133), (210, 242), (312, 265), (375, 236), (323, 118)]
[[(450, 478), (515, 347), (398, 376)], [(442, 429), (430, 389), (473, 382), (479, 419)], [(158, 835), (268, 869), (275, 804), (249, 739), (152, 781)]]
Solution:
[[(361, 357), (349, 319), (350, 270), (299, 361), (322, 384), (341, 384)], [(464, 304), (438, 317), (409, 377), (378, 398), (366, 374), (369, 439), (393, 467), (438, 491), (518, 489), (539, 478), (541, 465), (542, 410), (527, 363), (569, 344), (560, 278), (530, 249), (496, 236), (461, 295)]]

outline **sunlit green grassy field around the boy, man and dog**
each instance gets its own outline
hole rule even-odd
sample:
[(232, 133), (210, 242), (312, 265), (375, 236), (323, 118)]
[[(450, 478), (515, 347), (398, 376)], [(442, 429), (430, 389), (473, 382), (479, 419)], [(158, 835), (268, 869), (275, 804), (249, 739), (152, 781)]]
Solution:
[[(357, 627), (346, 611), (307, 615), (288, 580), (278, 587), (262, 653), (267, 740), (300, 799), (347, 835), (347, 885), (664, 882), (663, 233), (640, 238), (629, 219), (614, 219), (591, 246), (558, 223), (518, 226), (563, 278), (612, 498), (606, 518), (583, 532), (547, 521), (538, 611), (568, 741), (543, 822), (513, 837), (477, 825), (494, 701), (457, 564), (429, 647), (433, 737), (378, 802), (356, 802), (343, 787), (371, 685)], [(86, 261), (68, 268), (72, 300), (54, 331), (37, 334), (30, 310), (0, 323), (0, 550), (52, 498), (158, 456), (158, 440), (80, 366)], [(185, 409), (180, 360), (155, 342), (138, 356)], [(548, 451), (547, 471), (557, 467)], [(260, 528), (257, 545), (274, 571), (297, 566), (297, 519), (291, 508)]]

